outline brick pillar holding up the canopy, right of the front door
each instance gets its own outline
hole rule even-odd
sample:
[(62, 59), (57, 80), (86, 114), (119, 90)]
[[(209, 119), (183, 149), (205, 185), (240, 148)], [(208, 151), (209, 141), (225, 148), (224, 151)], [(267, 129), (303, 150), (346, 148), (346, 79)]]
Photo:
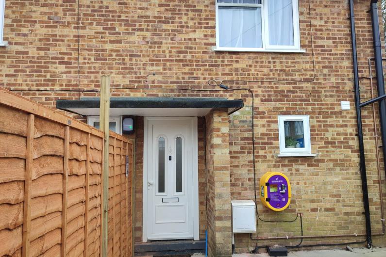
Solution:
[(232, 256), (228, 110), (206, 115), (209, 256)]

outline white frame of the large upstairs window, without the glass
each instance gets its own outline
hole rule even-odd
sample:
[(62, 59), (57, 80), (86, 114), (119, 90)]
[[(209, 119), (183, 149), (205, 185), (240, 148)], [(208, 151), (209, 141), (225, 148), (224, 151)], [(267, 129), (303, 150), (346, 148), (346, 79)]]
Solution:
[[(216, 1), (216, 48), (215, 51), (237, 51), (237, 52), (305, 52), (300, 48), (299, 32), (299, 5), (298, 0), (292, 0), (292, 17), (294, 28), (294, 46), (271, 46), (269, 45), (269, 26), (268, 26), (268, 4), (269, 0), (261, 0), (261, 4), (251, 3), (218, 3)], [(261, 7), (261, 25), (262, 25), (262, 48), (232, 48), (219, 46), (219, 24), (218, 24), (218, 7), (235, 6), (235, 7)]]

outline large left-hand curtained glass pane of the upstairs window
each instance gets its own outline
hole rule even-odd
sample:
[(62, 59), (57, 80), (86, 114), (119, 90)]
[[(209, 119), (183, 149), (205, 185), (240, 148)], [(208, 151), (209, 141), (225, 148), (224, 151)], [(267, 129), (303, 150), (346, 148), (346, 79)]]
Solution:
[(261, 8), (218, 7), (219, 46), (262, 48)]

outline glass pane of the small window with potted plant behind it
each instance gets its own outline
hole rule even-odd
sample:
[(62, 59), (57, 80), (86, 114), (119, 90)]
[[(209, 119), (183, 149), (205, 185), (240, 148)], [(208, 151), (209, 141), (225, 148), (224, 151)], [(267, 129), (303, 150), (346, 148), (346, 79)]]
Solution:
[(302, 121), (285, 121), (285, 148), (304, 148), (304, 129)]

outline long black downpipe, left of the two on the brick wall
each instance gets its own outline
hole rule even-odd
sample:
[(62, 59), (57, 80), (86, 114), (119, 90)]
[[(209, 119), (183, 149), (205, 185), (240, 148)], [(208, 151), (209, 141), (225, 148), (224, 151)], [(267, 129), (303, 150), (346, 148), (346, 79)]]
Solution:
[(365, 147), (363, 144), (363, 129), (362, 129), (362, 113), (360, 108), (360, 92), (359, 92), (359, 73), (358, 73), (358, 56), (356, 52), (356, 35), (355, 35), (355, 16), (354, 16), (354, 2), (349, 0), (350, 4), (350, 24), (351, 24), (351, 42), (352, 42), (352, 63), (354, 73), (354, 92), (355, 92), (355, 109), (356, 119), (358, 126), (358, 140), (359, 140), (359, 168), (362, 179), (362, 194), (363, 194), (363, 207), (365, 209), (366, 219), (366, 240), (367, 247), (371, 248), (371, 221), (370, 221), (370, 208), (369, 208), (369, 193), (367, 188), (367, 176), (366, 176), (366, 161), (365, 161)]

